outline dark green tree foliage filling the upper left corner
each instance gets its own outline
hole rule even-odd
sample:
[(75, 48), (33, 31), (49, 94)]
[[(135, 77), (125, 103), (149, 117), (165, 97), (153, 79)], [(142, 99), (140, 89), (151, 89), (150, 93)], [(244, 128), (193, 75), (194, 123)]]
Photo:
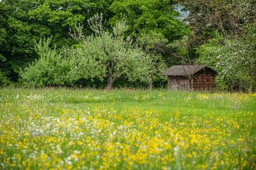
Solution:
[(84, 24), (84, 33), (90, 35), (86, 19), (98, 11), (107, 13), (108, 6), (109, 1), (99, 0), (0, 1), (0, 56), (6, 58), (0, 65), (8, 67), (1, 71), (17, 81), (20, 68), (38, 58), (35, 40), (52, 35), (52, 45), (57, 48), (73, 45), (76, 42), (69, 38), (69, 28)]

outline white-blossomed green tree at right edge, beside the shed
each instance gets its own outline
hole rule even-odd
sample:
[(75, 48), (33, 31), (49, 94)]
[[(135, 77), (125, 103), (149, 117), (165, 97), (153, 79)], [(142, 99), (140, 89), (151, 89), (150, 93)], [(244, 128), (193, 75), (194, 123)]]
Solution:
[[(227, 89), (248, 89), (255, 82), (256, 55), (255, 42), (248, 38), (229, 40), (217, 36), (209, 43), (198, 47), (199, 62), (215, 68), (219, 72), (218, 86)], [(223, 87), (221, 87), (223, 88)]]

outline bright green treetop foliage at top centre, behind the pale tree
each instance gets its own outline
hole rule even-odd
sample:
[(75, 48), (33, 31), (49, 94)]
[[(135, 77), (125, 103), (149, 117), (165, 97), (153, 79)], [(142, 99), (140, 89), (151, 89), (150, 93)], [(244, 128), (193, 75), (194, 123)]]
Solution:
[(176, 1), (173, 0), (116, 0), (110, 6), (114, 17), (109, 24), (115, 25), (122, 15), (127, 17), (128, 35), (141, 31), (156, 31), (169, 41), (184, 35), (186, 27), (178, 19), (179, 13), (175, 11)]

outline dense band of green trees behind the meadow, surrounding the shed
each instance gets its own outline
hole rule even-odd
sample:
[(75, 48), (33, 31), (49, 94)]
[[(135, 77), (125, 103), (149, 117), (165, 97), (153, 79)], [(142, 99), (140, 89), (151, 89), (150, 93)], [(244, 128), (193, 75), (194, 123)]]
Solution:
[(255, 91), (254, 0), (2, 0), (0, 86), (163, 87), (202, 64)]

